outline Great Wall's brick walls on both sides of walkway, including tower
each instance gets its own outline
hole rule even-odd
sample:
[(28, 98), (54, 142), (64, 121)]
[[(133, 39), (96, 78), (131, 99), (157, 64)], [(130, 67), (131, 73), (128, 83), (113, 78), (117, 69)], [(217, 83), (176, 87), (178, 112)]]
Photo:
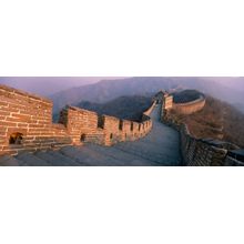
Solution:
[[(190, 103), (175, 104), (172, 95), (161, 91), (143, 113), (140, 123), (99, 115), (69, 105), (60, 112), (59, 123), (52, 123), (50, 100), (0, 85), (0, 155), (17, 155), (24, 151), (54, 151), (68, 145), (82, 145), (85, 142), (102, 146), (134, 142), (151, 132), (151, 113), (160, 105), (161, 122), (179, 132), (181, 165), (244, 165), (236, 159), (237, 146), (221, 141), (195, 139), (185, 124), (176, 124), (165, 116), (171, 109), (190, 114), (201, 110), (204, 104), (203, 96)], [(163, 136), (163, 131), (161, 133)]]

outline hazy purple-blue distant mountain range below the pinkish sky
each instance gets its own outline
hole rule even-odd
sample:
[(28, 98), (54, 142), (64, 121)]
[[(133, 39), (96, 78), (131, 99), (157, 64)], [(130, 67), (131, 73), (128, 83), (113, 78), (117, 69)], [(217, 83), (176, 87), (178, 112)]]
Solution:
[(103, 80), (98, 83), (69, 89), (51, 95), (54, 112), (65, 104), (78, 104), (80, 101), (103, 103), (122, 95), (145, 95), (161, 89), (196, 89), (232, 104), (244, 104), (242, 91), (226, 87), (210, 78), (162, 78), (143, 77), (115, 80)]

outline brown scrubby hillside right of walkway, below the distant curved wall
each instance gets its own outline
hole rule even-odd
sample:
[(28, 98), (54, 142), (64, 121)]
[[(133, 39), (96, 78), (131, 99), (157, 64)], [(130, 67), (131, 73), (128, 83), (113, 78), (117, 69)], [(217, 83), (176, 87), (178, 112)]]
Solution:
[(190, 115), (171, 111), (167, 115), (186, 123), (195, 138), (220, 139), (244, 148), (244, 114), (226, 102), (206, 96), (202, 111)]

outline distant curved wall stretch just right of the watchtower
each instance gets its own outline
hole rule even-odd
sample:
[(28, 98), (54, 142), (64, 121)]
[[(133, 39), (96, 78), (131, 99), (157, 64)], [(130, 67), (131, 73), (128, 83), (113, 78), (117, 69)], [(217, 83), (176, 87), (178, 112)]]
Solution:
[(172, 109), (182, 114), (191, 114), (202, 110), (204, 105), (205, 105), (205, 98), (201, 95), (200, 99), (194, 100), (192, 102), (173, 103)]

